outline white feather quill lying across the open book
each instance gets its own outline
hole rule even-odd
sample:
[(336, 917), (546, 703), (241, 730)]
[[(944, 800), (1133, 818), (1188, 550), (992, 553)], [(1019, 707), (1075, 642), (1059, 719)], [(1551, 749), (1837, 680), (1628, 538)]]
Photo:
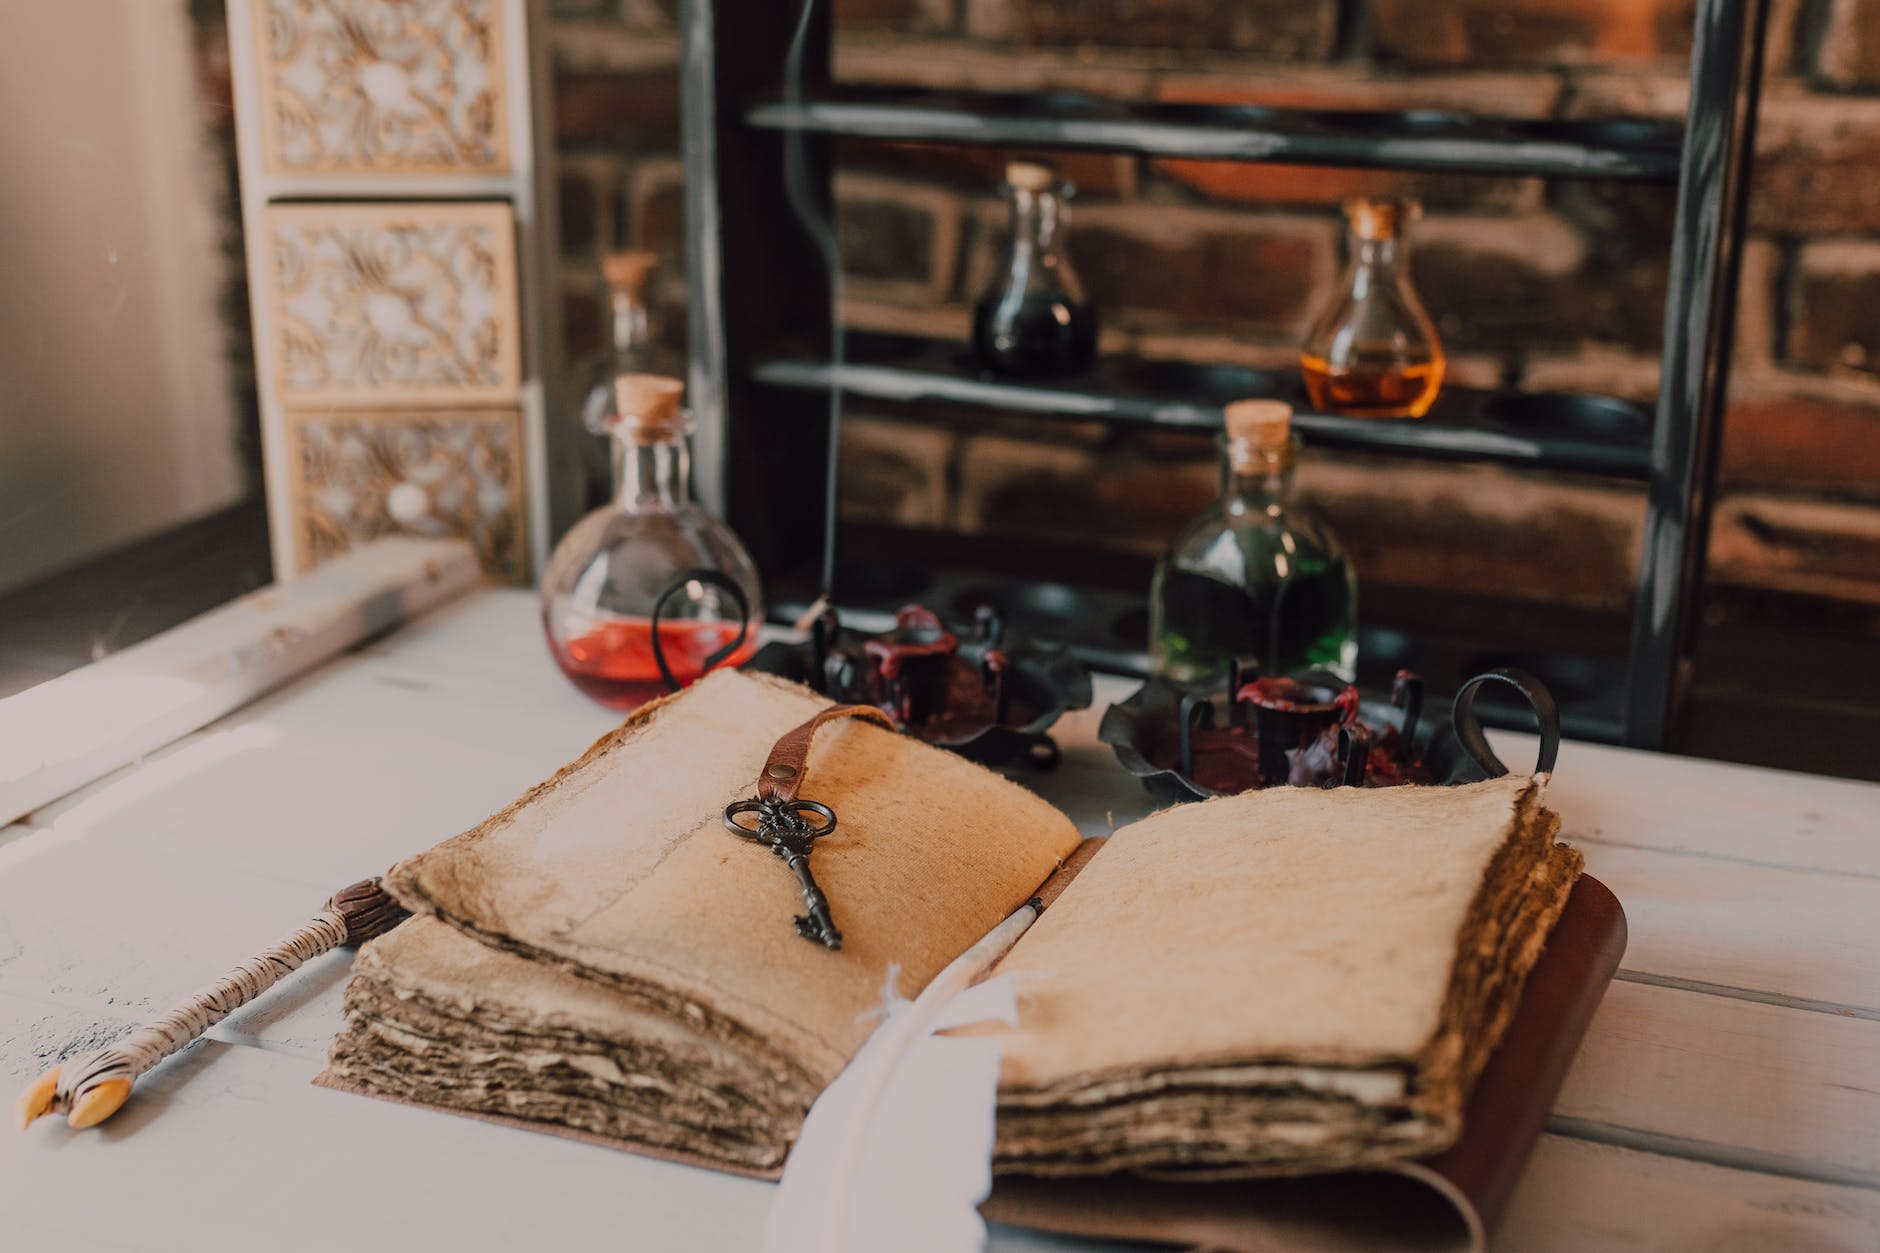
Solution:
[(978, 1253), (993, 1189), (998, 1042), (934, 1035), (1017, 1022), (1010, 978), (972, 986), (1038, 918), (987, 931), (887, 1016), (810, 1106), (771, 1200), (763, 1253)]

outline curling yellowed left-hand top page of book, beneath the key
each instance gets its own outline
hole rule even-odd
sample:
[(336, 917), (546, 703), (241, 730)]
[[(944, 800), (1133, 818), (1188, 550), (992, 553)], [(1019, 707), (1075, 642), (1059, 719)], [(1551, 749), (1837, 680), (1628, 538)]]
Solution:
[(844, 946), (801, 939), (790, 871), (728, 833), (722, 813), (825, 704), (780, 679), (713, 674), (387, 884), (487, 946), (786, 1061), (816, 1091), (872, 1029), (891, 965), (912, 995), (1077, 847), (1070, 818), (1019, 785), (880, 726), (831, 722), (801, 794), (838, 817), (810, 865)]

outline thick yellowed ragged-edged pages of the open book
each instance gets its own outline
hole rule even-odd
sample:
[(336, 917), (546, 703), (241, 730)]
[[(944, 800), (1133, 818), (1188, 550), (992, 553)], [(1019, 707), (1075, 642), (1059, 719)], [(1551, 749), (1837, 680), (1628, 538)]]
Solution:
[[(846, 937), (724, 830), (827, 702), (720, 672), (397, 865), (323, 1082), (775, 1174), (872, 1029), (1079, 849), (1023, 786), (880, 726), (822, 728), (801, 794)], [(1119, 830), (1004, 956), (995, 1166), (1303, 1174), (1459, 1131), (1579, 873), (1543, 779), (1278, 788)], [(1079, 858), (1079, 862), (1083, 862)]]

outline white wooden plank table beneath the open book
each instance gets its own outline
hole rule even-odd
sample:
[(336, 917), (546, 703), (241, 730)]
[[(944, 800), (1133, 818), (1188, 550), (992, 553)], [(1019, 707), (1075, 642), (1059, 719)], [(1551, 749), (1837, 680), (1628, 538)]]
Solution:
[[(1120, 689), (1032, 779), (1092, 832), (1147, 809), (1094, 739)], [(534, 596), (478, 593), (0, 830), (6, 1095), (609, 724), (553, 670)], [(1553, 803), (1632, 943), (1498, 1245), (1880, 1249), (1880, 786), (1570, 743)], [(0, 1131), (0, 1249), (756, 1247), (763, 1183), (312, 1087), (348, 963), (299, 971), (98, 1131)]]

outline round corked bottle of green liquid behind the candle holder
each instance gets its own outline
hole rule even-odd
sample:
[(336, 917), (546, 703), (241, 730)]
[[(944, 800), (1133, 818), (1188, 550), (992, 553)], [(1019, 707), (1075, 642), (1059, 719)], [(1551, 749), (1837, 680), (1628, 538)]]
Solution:
[(1284, 401), (1226, 408), (1226, 489), (1183, 527), (1149, 587), (1149, 666), (1220, 683), (1254, 658), (1280, 675), (1357, 666), (1357, 579), (1331, 527), (1293, 497), (1299, 440)]

